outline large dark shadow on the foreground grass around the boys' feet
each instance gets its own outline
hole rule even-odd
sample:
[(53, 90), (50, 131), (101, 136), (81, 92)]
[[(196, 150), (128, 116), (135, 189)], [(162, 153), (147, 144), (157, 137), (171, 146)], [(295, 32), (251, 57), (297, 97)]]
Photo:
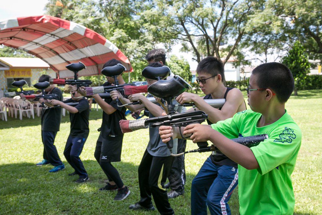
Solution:
[[(83, 161), (90, 180), (81, 184), (74, 182), (78, 176), (68, 176), (74, 170), (66, 161), (64, 163), (66, 168), (54, 173), (48, 172), (51, 165), (37, 167), (26, 162), (0, 165), (1, 214), (159, 214), (157, 210), (128, 209), (130, 204), (140, 200), (137, 165), (112, 163), (131, 192), (127, 199), (113, 201), (117, 192), (99, 191), (105, 186), (102, 181), (106, 176), (96, 161)], [(187, 174), (184, 196), (169, 200), (176, 214), (190, 214), (193, 177)]]

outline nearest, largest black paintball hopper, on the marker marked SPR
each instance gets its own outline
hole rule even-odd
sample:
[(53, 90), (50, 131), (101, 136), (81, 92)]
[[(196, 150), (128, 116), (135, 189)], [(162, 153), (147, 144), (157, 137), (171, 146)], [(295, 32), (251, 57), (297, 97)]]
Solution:
[(151, 84), (147, 88), (147, 92), (158, 98), (172, 98), (180, 95), (189, 88), (191, 88), (189, 83), (183, 80), (179, 75), (175, 75), (169, 80), (159, 80)]

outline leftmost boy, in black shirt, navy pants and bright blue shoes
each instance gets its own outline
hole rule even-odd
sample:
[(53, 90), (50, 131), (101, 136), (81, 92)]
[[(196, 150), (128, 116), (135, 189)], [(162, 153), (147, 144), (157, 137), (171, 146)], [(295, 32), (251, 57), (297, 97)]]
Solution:
[[(49, 82), (49, 75), (42, 75), (39, 78), (39, 82)], [(57, 100), (62, 101), (62, 91), (51, 84), (45, 89), (46, 94), (57, 94)], [(48, 107), (52, 107), (50, 103), (44, 101), (43, 98), (39, 99), (40, 103), (46, 104)], [(52, 164), (54, 168), (49, 170), (49, 172), (57, 172), (65, 169), (65, 165), (62, 163), (56, 146), (54, 146), (54, 141), (57, 132), (59, 131), (60, 122), (62, 119), (62, 109), (61, 108), (43, 108), (41, 112), (41, 130), (42, 130), (42, 140), (43, 140), (43, 160), (36, 163), (37, 166), (44, 164)]]

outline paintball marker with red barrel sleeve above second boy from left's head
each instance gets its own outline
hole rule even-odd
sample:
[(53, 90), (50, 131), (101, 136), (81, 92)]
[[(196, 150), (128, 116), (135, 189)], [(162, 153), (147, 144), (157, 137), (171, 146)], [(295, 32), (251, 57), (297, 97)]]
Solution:
[(50, 84), (71, 84), (76, 85), (77, 89), (80, 86), (88, 87), (92, 82), (90, 80), (80, 80), (78, 79), (78, 72), (82, 69), (86, 69), (86, 66), (82, 62), (68, 64), (66, 68), (74, 73), (74, 79), (57, 79), (57, 78), (50, 78)]

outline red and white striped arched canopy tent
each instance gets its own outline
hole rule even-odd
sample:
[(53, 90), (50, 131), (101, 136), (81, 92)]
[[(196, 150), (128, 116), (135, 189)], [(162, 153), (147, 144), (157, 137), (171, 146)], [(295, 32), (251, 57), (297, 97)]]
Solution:
[(0, 44), (22, 49), (48, 63), (59, 78), (73, 77), (66, 65), (81, 61), (79, 76), (100, 74), (115, 58), (133, 71), (128, 58), (108, 39), (80, 24), (48, 15), (0, 21)]

